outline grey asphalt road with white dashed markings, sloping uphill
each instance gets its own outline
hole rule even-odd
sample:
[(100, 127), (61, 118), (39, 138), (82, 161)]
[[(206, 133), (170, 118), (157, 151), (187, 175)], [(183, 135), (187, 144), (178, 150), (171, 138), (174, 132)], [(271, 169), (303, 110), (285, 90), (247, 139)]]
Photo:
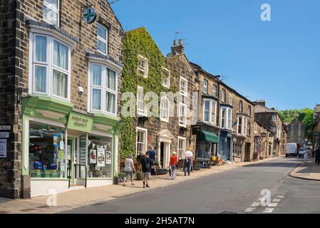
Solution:
[(299, 162), (279, 158), (63, 213), (319, 214), (320, 182), (288, 176)]

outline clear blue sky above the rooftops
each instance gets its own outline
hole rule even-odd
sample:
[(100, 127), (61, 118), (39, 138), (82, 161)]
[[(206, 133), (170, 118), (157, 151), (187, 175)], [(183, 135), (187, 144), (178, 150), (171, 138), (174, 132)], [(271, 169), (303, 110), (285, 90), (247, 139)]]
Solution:
[[(260, 19), (264, 3), (272, 21)], [(186, 39), (190, 61), (249, 100), (279, 110), (320, 103), (319, 0), (120, 0), (113, 10), (125, 31), (145, 26), (164, 55)]]

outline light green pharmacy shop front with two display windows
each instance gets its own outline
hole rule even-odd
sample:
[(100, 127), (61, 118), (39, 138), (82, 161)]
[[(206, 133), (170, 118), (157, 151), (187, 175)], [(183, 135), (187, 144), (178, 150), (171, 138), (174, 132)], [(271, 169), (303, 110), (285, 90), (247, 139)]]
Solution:
[(22, 175), (31, 197), (112, 185), (117, 170), (120, 119), (77, 113), (48, 96), (23, 98)]

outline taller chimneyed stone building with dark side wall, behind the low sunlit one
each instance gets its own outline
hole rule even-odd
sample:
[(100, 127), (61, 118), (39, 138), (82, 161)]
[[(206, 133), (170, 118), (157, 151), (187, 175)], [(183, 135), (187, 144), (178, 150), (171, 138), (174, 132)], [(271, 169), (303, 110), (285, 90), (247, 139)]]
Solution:
[(273, 154), (279, 156), (284, 154), (284, 147), (282, 140), (283, 122), (279, 113), (274, 108), (267, 108), (265, 100), (257, 100), (254, 102), (254, 118), (269, 128), (274, 133), (274, 147)]

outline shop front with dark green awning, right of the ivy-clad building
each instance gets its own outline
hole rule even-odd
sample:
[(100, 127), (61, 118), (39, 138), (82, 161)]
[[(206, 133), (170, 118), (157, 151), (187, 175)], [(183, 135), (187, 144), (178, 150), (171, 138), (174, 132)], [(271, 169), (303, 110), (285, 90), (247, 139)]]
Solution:
[(192, 134), (197, 135), (195, 161), (201, 168), (210, 166), (211, 157), (217, 156), (219, 130), (207, 124), (193, 125)]

